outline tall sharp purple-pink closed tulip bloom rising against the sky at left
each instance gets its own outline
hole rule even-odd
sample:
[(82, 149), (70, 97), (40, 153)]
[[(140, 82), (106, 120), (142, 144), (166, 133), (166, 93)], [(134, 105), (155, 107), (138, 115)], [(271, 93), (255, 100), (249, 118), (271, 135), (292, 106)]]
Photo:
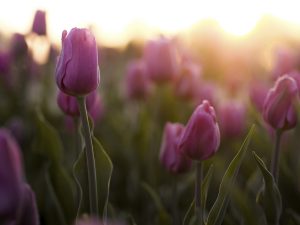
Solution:
[(98, 87), (97, 44), (88, 29), (73, 28), (69, 34), (62, 33), (62, 51), (55, 74), (58, 87), (69, 95), (87, 95)]

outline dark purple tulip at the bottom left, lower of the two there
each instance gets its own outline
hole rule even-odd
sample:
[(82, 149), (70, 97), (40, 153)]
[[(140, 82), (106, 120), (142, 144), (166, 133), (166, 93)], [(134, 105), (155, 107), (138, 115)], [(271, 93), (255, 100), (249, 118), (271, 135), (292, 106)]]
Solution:
[(38, 225), (39, 215), (36, 205), (35, 194), (26, 183), (22, 185), (22, 201), (17, 221), (22, 225)]

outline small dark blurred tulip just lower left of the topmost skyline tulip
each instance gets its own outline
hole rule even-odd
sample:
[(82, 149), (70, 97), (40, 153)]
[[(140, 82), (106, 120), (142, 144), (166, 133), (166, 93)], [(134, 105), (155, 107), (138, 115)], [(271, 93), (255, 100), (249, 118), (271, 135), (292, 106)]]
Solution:
[(28, 45), (23, 34), (15, 33), (11, 38), (10, 45), (10, 54), (13, 59), (27, 55)]

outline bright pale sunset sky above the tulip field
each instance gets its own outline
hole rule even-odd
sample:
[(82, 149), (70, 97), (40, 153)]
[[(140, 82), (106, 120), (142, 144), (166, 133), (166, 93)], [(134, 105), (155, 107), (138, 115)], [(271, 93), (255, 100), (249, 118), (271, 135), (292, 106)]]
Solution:
[(8, 0), (0, 7), (0, 32), (28, 32), (36, 9), (47, 11), (52, 40), (59, 41), (64, 29), (93, 24), (107, 45), (125, 44), (132, 36), (174, 34), (207, 18), (238, 36), (265, 14), (300, 25), (299, 0)]

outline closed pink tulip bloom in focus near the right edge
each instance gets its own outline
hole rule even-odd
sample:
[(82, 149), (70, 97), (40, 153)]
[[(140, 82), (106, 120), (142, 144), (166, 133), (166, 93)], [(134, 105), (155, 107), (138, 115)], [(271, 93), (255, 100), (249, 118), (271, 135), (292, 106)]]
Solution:
[(292, 129), (297, 123), (294, 101), (298, 94), (296, 81), (285, 75), (277, 79), (264, 102), (264, 120), (275, 130)]

